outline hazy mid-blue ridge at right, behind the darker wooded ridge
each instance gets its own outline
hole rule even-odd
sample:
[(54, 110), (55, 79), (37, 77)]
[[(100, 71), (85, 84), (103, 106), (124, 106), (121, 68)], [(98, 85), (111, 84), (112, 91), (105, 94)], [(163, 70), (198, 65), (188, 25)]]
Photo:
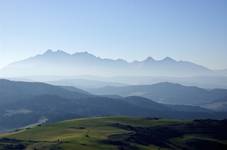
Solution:
[(178, 105), (203, 105), (227, 97), (226, 89), (207, 90), (194, 86), (183, 86), (169, 82), (152, 85), (132, 85), (123, 87), (103, 87), (90, 89), (94, 94), (142, 96), (156, 102)]

